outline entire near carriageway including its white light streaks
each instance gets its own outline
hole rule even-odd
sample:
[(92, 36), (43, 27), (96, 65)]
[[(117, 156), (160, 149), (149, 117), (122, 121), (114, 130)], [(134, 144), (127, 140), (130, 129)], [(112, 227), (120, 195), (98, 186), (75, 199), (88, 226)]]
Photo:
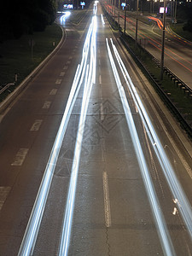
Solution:
[(0, 255), (191, 255), (192, 145), (100, 3), (1, 115)]

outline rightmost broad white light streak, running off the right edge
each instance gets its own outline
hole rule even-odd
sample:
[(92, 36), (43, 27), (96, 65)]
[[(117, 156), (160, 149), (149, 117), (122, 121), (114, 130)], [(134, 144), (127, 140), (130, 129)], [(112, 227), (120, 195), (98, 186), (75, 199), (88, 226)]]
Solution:
[(172, 196), (174, 199), (177, 199), (178, 211), (181, 213), (181, 216), (183, 217), (183, 221), (186, 224), (187, 230), (189, 231), (189, 236), (192, 239), (192, 211), (191, 211), (191, 206), (189, 204), (189, 200), (186, 197), (185, 193), (183, 192), (183, 188), (182, 188), (181, 184), (177, 180), (177, 177), (172, 168), (172, 165), (166, 155), (166, 152), (165, 152), (162, 144), (160, 143), (160, 139), (154, 130), (154, 126), (152, 125), (152, 123), (148, 117), (148, 113), (143, 106), (143, 102), (141, 101), (140, 97), (138, 96), (137, 90), (136, 90), (134, 84), (132, 83), (131, 77), (130, 77), (129, 73), (127, 72), (125, 65), (124, 65), (123, 61), (121, 60), (119, 53), (114, 44), (113, 44), (113, 50), (117, 57), (117, 61), (119, 62), (119, 67), (121, 68), (121, 71), (124, 75), (125, 82), (128, 86), (129, 91), (131, 92), (131, 96), (132, 96), (132, 98), (137, 106), (138, 112), (143, 120), (145, 129), (148, 132), (148, 137), (150, 139), (150, 142), (152, 145), (154, 145), (154, 152), (158, 157), (160, 166), (161, 166), (161, 168), (164, 172), (164, 175), (166, 177), (166, 181), (169, 184), (170, 189), (172, 190)]

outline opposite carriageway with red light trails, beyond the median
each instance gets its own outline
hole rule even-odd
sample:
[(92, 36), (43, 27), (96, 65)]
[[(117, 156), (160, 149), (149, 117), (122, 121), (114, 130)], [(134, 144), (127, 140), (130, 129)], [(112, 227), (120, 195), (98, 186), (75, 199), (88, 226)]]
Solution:
[[(106, 6), (108, 12), (114, 14), (113, 6)], [(118, 21), (118, 15), (120, 14), (120, 26), (123, 31), (126, 27), (126, 33), (131, 35), (132, 38), (136, 38), (136, 19), (133, 18), (131, 12), (127, 12), (126, 25), (125, 25), (125, 12), (122, 10), (119, 13), (119, 9), (115, 10), (116, 20)], [(131, 15), (130, 15), (131, 14)], [(148, 25), (140, 21), (140, 12), (138, 14), (138, 32), (137, 42), (141, 44), (143, 48), (147, 49), (149, 53), (161, 61), (161, 44), (162, 44), (162, 19), (155, 18), (153, 16), (146, 17), (151, 21), (151, 25)], [(144, 19), (143, 19), (144, 20)], [(165, 37), (165, 59), (164, 65), (169, 68), (172, 73), (176, 74), (185, 84), (192, 88), (192, 43), (179, 37), (172, 32), (168, 21), (166, 21), (166, 37)], [(159, 79), (159, 78), (158, 78)]]

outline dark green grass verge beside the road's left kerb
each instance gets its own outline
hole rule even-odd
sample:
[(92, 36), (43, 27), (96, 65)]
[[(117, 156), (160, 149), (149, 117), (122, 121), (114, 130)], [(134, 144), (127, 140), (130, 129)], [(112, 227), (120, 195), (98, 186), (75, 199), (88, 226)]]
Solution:
[(9, 90), (0, 95), (1, 102), (55, 49), (61, 34), (61, 27), (54, 23), (47, 26), (44, 32), (35, 32), (0, 44), (0, 85), (15, 82), (17, 74), (15, 86), (10, 86)]

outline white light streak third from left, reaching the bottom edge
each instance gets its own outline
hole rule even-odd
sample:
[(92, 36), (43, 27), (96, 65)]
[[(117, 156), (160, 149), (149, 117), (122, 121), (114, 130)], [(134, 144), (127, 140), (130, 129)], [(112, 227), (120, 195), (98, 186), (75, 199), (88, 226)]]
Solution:
[(111, 49), (109, 47), (108, 44), (108, 39), (107, 39), (107, 48), (108, 48), (108, 56), (109, 56), (109, 60), (113, 69), (113, 74), (114, 74), (114, 78), (119, 90), (119, 96), (125, 111), (125, 118), (127, 121), (127, 125), (129, 127), (130, 133), (131, 133), (131, 139), (132, 139), (132, 143), (133, 146), (135, 148), (135, 152), (137, 154), (137, 160), (138, 160), (138, 164), (140, 166), (142, 175), (143, 175), (143, 182), (145, 184), (145, 188), (146, 191), (148, 193), (148, 200), (150, 202), (151, 208), (153, 210), (153, 214), (154, 214), (154, 219), (155, 219), (155, 223), (157, 226), (157, 230), (160, 236), (160, 242), (161, 242), (161, 246), (163, 248), (163, 251), (165, 253), (165, 255), (169, 255), (169, 256), (173, 256), (176, 255), (174, 252), (174, 247), (172, 246), (172, 240), (171, 237), (169, 235), (169, 232), (167, 230), (166, 227), (166, 221), (164, 219), (163, 213), (161, 212), (160, 209), (160, 203), (158, 201), (155, 189), (154, 189), (154, 184), (152, 182), (152, 179), (150, 177), (150, 173), (148, 171), (148, 166), (143, 154), (143, 149), (141, 146), (141, 143), (139, 141), (139, 137), (137, 134), (137, 129), (131, 114), (131, 108), (129, 106), (129, 103), (127, 101), (127, 98), (125, 96), (125, 90), (124, 87), (122, 86), (120, 79), (119, 79), (119, 73), (117, 71), (117, 68), (115, 66), (115, 63), (113, 61), (113, 55), (111, 53)]

